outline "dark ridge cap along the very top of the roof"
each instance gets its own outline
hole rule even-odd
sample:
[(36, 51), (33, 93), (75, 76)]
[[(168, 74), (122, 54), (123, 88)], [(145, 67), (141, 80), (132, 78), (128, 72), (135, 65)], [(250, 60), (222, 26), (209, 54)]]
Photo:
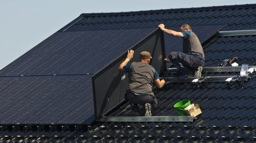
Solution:
[(250, 8), (256, 7), (256, 4), (244, 4), (244, 5), (222, 5), (211, 7), (191, 7), (191, 8), (177, 8), (177, 9), (159, 9), (159, 10), (140, 10), (130, 12), (101, 12), (101, 13), (82, 13), (80, 16), (118, 16), (128, 14), (149, 14), (158, 12), (183, 12), (183, 11), (195, 11), (195, 10), (217, 10), (217, 9), (238, 9), (238, 8)]

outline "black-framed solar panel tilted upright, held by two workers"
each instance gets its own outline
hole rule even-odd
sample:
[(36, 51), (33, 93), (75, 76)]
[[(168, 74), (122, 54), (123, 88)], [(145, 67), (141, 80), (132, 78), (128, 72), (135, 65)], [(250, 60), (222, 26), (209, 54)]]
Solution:
[[(149, 64), (160, 75), (165, 72), (166, 63), (163, 62), (165, 58), (164, 38), (163, 32), (158, 28), (130, 49), (135, 51), (131, 63), (138, 61), (140, 52), (149, 51), (153, 57)], [(128, 73), (118, 72), (117, 69), (126, 55), (127, 51), (92, 76), (96, 120), (124, 101), (124, 94), (128, 88), (128, 78), (126, 78)]]

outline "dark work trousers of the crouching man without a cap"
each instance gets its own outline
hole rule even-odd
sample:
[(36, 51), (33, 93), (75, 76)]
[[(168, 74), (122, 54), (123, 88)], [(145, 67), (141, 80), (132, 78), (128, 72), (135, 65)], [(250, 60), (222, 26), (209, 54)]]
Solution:
[(204, 66), (204, 59), (197, 54), (184, 54), (182, 52), (170, 52), (170, 61), (179, 69), (179, 72), (194, 76), (198, 66)]

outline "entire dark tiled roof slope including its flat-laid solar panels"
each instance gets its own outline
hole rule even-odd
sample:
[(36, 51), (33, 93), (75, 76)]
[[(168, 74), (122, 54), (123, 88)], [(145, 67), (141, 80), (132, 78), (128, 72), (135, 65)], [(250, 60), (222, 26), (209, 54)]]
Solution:
[[(218, 30), (256, 30), (256, 4), (81, 14), (0, 71), (0, 119), (4, 119), (0, 124), (79, 125), (88, 123), (86, 119), (93, 120), (90, 118), (94, 112), (91, 75), (146, 37), (160, 23), (173, 30), (179, 30), (184, 23), (191, 24), (202, 42), (206, 66), (217, 66), (220, 60), (233, 57), (239, 58), (239, 65), (255, 65), (255, 34), (214, 34)], [(181, 38), (165, 34), (167, 54), (181, 51), (180, 41)], [(204, 75), (239, 75), (239, 72)], [(194, 122), (96, 122), (84, 130), (71, 129), (64, 135), (49, 133), (49, 129), (36, 135), (47, 132), (50, 137), (46, 140), (58, 134), (81, 141), (252, 142), (256, 129), (255, 73), (251, 76), (247, 82), (172, 83), (155, 91), (158, 108), (153, 116), (177, 115), (173, 105), (189, 99), (199, 103), (203, 112), (203, 117)], [(126, 109), (129, 109), (128, 104), (109, 115), (125, 115), (129, 111)]]

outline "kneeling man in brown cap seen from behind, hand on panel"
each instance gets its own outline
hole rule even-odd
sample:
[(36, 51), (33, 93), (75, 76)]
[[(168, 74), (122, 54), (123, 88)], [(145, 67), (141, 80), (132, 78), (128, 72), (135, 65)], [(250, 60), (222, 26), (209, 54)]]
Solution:
[(128, 62), (133, 58), (133, 50), (128, 51), (126, 59), (119, 65), (118, 71), (129, 73), (129, 87), (125, 99), (130, 101), (134, 115), (140, 115), (138, 104), (143, 105), (144, 116), (151, 116), (151, 107), (157, 104), (157, 99), (152, 91), (153, 83), (161, 88), (165, 80), (160, 80), (153, 66), (149, 65), (151, 54), (147, 51), (140, 52), (140, 62)]

